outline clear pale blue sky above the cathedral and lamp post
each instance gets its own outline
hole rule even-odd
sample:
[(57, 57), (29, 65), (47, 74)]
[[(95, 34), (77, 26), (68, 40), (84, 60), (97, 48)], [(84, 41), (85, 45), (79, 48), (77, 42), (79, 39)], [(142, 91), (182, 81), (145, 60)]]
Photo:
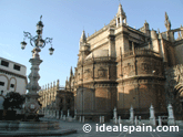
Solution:
[[(166, 11), (172, 29), (183, 24), (181, 0), (121, 0), (122, 8), (132, 28), (141, 28), (145, 20), (150, 29), (165, 31)], [(30, 73), (29, 59), (32, 46), (21, 50), (23, 31), (35, 35), (35, 24), (42, 14), (43, 39), (53, 38), (55, 49), (49, 55), (50, 44), (40, 53), (40, 86), (60, 80), (64, 85), (70, 67), (77, 66), (79, 40), (84, 29), (91, 35), (108, 24), (116, 14), (119, 0), (0, 0), (0, 56), (21, 63)]]

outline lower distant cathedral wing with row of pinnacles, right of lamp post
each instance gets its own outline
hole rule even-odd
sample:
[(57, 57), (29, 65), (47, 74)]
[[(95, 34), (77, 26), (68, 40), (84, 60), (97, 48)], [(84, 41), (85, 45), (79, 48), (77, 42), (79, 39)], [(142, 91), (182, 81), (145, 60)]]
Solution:
[(71, 116), (74, 115), (73, 93), (61, 87), (59, 80), (57, 84), (53, 82), (53, 84), (51, 83), (42, 87), (39, 95), (39, 101), (42, 104), (42, 108), (39, 113), (44, 114), (45, 117), (60, 118), (61, 112), (63, 115), (67, 115), (68, 109)]

